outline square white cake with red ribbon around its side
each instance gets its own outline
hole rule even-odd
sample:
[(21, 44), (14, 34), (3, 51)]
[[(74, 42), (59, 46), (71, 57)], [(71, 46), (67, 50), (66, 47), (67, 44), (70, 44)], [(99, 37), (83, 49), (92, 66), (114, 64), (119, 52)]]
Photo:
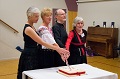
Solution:
[[(71, 69), (70, 69), (71, 68)], [(84, 75), (85, 71), (81, 69), (80, 67), (75, 67), (75, 66), (62, 66), (58, 68), (58, 73), (65, 75), (65, 76), (80, 76)]]

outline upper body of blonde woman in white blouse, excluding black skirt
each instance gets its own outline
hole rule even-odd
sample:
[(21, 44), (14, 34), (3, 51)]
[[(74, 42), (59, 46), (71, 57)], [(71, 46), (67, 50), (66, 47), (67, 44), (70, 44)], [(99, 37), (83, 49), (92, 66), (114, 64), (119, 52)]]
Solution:
[[(41, 18), (42, 18), (42, 24), (38, 28), (39, 36), (47, 43), (53, 44), (55, 46), (58, 46), (58, 44), (55, 42), (52, 30), (50, 27), (50, 22), (52, 20), (52, 10), (50, 8), (44, 8), (41, 11)], [(47, 47), (42, 45), (42, 49), (48, 49)]]

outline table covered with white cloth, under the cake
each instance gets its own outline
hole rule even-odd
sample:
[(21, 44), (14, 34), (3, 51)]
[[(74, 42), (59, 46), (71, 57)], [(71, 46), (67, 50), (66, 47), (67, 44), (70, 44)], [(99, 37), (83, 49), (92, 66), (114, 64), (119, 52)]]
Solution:
[(53, 67), (24, 71), (22, 78), (26, 79), (26, 76), (28, 76), (32, 79), (118, 79), (118, 75), (116, 73), (105, 71), (89, 64), (77, 64), (77, 66), (84, 69), (86, 71), (86, 75), (67, 77), (57, 73), (58, 67)]

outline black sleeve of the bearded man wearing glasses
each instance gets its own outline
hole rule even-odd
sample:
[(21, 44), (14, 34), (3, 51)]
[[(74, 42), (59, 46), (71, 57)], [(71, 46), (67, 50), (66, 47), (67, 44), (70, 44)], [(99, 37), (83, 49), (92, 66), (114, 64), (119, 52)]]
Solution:
[(59, 26), (53, 26), (52, 27), (52, 31), (53, 31), (53, 36), (54, 36), (54, 39), (56, 41), (56, 43), (62, 47), (62, 48), (65, 48), (65, 45), (62, 43), (61, 41), (61, 35), (60, 35), (60, 29), (59, 29)]

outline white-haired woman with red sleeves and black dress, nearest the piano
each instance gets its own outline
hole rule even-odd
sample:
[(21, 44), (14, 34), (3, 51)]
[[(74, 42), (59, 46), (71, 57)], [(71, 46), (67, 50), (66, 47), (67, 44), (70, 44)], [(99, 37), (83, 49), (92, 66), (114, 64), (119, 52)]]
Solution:
[(70, 51), (68, 62), (70, 65), (87, 63), (85, 43), (87, 31), (83, 29), (82, 17), (76, 17), (73, 21), (73, 30), (70, 31), (66, 42), (66, 49)]

